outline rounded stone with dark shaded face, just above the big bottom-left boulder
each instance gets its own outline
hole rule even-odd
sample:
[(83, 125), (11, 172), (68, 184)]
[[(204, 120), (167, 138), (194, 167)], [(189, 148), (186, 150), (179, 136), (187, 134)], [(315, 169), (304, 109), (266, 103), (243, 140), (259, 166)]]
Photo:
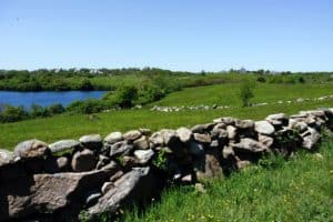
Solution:
[(97, 165), (97, 158), (91, 150), (84, 149), (75, 152), (72, 159), (72, 169), (75, 172), (93, 170)]

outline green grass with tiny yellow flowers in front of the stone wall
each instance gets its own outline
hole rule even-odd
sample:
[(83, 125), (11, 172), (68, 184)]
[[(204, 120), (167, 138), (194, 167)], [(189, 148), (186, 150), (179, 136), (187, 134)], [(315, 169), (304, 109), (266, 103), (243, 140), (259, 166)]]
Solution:
[(289, 162), (268, 159), (269, 168), (206, 181), (205, 194), (175, 188), (143, 214), (125, 211), (120, 221), (333, 221), (333, 140), (321, 154), (299, 153)]

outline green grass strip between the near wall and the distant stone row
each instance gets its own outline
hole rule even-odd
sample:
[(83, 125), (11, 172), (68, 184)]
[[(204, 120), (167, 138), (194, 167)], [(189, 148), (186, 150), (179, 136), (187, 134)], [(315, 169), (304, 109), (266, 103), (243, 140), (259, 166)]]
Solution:
[(150, 110), (127, 110), (99, 113), (98, 119), (89, 115), (58, 115), (53, 118), (27, 120), (16, 123), (0, 124), (0, 147), (13, 149), (23, 140), (40, 139), (54, 142), (60, 139), (78, 139), (88, 133), (107, 135), (112, 131), (127, 131), (138, 128), (158, 130), (211, 122), (218, 117), (235, 117), (242, 119), (262, 119), (268, 114), (285, 112), (296, 113), (300, 110), (333, 107), (333, 101), (316, 101), (293, 104), (271, 104), (256, 108), (234, 108), (209, 111), (155, 112)]

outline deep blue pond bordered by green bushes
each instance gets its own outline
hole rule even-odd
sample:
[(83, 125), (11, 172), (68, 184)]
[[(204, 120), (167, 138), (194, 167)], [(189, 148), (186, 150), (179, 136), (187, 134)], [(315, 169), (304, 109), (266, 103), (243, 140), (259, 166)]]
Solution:
[[(42, 107), (61, 103), (68, 105), (75, 100), (85, 100), (90, 98), (99, 99), (105, 93), (104, 91), (65, 91), (65, 92), (16, 92), (0, 91), (0, 107), (3, 104), (23, 105), (30, 108), (31, 104)], [(0, 108), (1, 109), (1, 108)]]

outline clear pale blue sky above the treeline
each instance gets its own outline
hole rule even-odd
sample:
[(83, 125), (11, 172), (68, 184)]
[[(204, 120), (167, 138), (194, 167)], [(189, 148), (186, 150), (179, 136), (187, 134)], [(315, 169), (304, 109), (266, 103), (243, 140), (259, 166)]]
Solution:
[(0, 0), (0, 69), (333, 71), (332, 0)]

